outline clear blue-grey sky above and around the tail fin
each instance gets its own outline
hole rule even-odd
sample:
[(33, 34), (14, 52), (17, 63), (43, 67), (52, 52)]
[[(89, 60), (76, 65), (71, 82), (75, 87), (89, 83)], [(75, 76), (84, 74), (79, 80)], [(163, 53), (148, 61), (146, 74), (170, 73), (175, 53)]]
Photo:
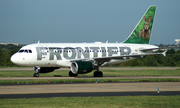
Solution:
[(175, 44), (180, 0), (0, 0), (0, 43), (122, 42), (150, 5), (150, 44)]

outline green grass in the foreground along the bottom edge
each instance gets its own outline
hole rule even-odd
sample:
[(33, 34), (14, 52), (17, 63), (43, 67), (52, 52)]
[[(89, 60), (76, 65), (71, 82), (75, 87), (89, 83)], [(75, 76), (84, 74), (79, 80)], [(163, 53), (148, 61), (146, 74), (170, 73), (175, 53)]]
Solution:
[(1, 99), (1, 108), (179, 108), (180, 96), (107, 96)]

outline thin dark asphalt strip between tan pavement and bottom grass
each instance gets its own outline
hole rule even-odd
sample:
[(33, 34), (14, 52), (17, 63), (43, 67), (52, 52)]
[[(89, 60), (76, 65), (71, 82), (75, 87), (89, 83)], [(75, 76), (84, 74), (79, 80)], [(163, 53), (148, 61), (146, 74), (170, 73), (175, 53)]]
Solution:
[(180, 95), (180, 91), (157, 92), (93, 92), (93, 93), (41, 93), (41, 94), (6, 94), (0, 99), (50, 98), (50, 97), (89, 97), (89, 96), (170, 96)]

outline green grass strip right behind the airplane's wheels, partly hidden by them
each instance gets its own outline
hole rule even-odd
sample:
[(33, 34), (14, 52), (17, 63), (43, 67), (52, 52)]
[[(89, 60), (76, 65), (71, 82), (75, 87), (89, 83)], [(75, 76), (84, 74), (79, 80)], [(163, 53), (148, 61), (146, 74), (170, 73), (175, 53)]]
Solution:
[[(34, 71), (0, 71), (0, 77), (32, 77)], [(43, 76), (69, 76), (68, 71), (56, 70), (51, 73), (40, 73)], [(180, 71), (176, 70), (103, 70), (104, 76), (180, 76)], [(79, 74), (78, 76), (93, 76), (93, 72)]]

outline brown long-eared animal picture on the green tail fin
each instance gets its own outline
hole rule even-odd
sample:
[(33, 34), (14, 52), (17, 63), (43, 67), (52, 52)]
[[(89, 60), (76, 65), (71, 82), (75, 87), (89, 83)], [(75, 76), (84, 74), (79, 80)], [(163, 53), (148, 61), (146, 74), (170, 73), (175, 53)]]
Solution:
[(145, 21), (144, 28), (139, 31), (138, 37), (142, 37), (142, 39), (149, 39), (151, 33), (149, 28), (149, 23), (151, 22), (151, 16), (149, 16), (148, 20), (145, 18), (145, 16), (143, 18)]

